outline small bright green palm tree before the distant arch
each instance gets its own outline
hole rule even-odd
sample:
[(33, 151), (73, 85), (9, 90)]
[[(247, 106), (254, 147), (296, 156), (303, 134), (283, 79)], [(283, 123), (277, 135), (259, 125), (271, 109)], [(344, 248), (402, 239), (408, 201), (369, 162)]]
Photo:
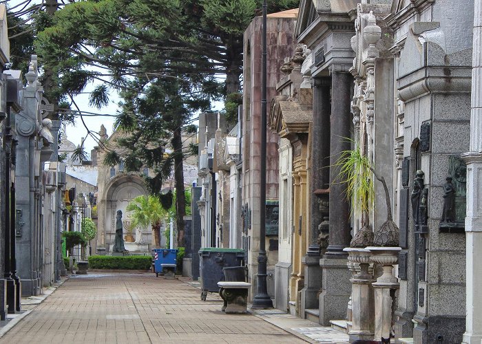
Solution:
[(160, 222), (167, 219), (169, 213), (160, 204), (158, 197), (152, 195), (137, 196), (127, 204), (126, 210), (132, 211), (134, 227), (147, 228), (151, 224), (152, 233), (154, 233), (154, 246), (160, 247)]

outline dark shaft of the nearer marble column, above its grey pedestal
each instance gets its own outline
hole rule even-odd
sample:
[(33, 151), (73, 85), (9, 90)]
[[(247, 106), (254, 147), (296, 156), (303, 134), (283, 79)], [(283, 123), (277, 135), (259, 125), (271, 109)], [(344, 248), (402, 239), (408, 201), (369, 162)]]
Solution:
[(350, 209), (346, 199), (346, 183), (339, 182), (339, 166), (336, 166), (342, 151), (351, 149), (350, 87), (353, 76), (345, 72), (333, 72), (331, 133), (330, 133), (330, 233), (326, 258), (346, 257), (344, 248), (350, 246)]

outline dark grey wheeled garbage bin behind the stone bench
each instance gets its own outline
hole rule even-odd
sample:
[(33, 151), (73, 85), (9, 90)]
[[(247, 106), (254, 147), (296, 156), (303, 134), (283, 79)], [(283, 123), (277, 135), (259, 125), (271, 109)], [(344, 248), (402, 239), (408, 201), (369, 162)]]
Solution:
[(201, 248), (198, 253), (201, 300), (206, 301), (208, 292), (219, 292), (218, 282), (224, 281), (223, 268), (244, 265), (244, 250), (209, 247)]

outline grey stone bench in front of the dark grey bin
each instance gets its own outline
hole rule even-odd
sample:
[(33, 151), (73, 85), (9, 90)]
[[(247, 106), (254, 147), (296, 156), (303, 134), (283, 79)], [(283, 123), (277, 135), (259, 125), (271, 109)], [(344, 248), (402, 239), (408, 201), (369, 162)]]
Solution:
[(219, 294), (224, 301), (222, 312), (227, 314), (246, 314), (248, 312), (248, 290), (251, 283), (218, 282)]

